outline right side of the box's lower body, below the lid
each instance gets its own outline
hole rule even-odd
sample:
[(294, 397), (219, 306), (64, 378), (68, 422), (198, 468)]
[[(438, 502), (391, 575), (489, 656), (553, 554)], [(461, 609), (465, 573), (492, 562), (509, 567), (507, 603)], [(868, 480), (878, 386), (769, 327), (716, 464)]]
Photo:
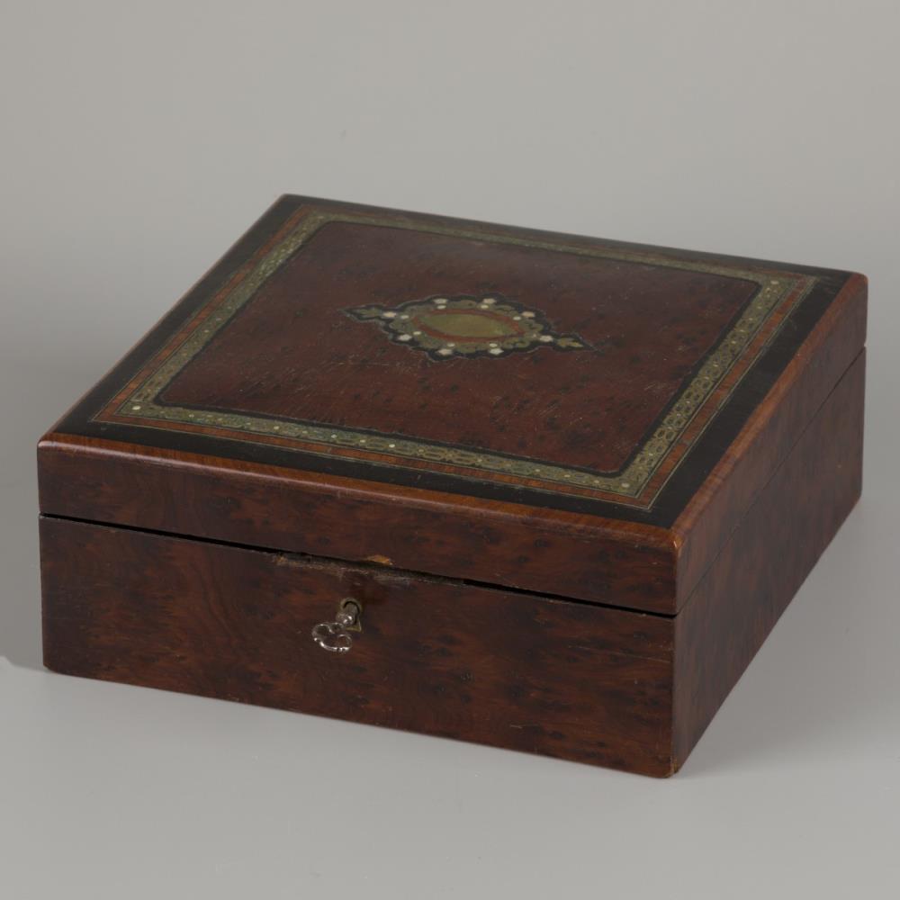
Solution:
[(860, 496), (864, 393), (865, 351), (675, 619), (678, 767)]

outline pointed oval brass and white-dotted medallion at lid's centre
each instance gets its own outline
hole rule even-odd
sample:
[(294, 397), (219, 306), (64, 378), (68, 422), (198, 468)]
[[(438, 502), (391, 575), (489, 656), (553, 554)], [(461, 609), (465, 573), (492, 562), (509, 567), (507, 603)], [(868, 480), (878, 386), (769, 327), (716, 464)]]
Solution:
[(357, 306), (345, 312), (353, 319), (379, 325), (394, 343), (421, 350), (432, 359), (509, 356), (537, 347), (590, 348), (578, 335), (554, 331), (543, 312), (529, 310), (499, 293), (435, 296), (392, 309)]

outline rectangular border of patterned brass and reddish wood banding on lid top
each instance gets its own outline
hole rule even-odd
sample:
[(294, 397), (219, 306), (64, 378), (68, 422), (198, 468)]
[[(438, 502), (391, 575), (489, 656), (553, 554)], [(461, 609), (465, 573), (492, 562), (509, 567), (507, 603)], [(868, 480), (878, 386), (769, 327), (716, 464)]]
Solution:
[[(324, 423), (193, 410), (159, 401), (169, 383), (184, 366), (202, 352), (229, 321), (256, 295), (266, 281), (311, 237), (331, 222), (372, 227), (410, 229), (446, 236), (493, 241), (581, 256), (722, 275), (757, 285), (757, 291), (716, 348), (644, 440), (625, 468), (601, 473), (472, 450), (428, 443), (405, 436), (380, 435), (371, 431), (336, 428)], [(93, 417), (97, 422), (121, 422), (144, 428), (196, 430), (202, 434), (233, 440), (277, 444), (306, 454), (340, 455), (353, 460), (430, 468), (466, 478), (493, 476), (512, 485), (551, 493), (580, 494), (613, 503), (650, 509), (680, 461), (694, 446), (716, 411), (720, 410), (761, 352), (779, 333), (788, 313), (812, 290), (815, 276), (779, 270), (752, 270), (722, 262), (663, 256), (644, 250), (581, 245), (565, 240), (545, 240), (497, 232), (477, 226), (449, 226), (403, 214), (366, 214), (306, 207), (293, 216), (286, 234), (238, 272), (225, 288), (199, 310), (145, 365), (136, 378)], [(739, 365), (740, 364), (740, 365)], [(737, 370), (740, 369), (740, 372)], [(716, 392), (716, 409), (698, 426), (698, 415)], [(688, 432), (692, 432), (688, 438)], [(678, 458), (675, 459), (674, 457)], [(665, 471), (663, 471), (665, 470)], [(655, 476), (655, 477), (654, 477)], [(653, 483), (652, 483), (653, 482)]]

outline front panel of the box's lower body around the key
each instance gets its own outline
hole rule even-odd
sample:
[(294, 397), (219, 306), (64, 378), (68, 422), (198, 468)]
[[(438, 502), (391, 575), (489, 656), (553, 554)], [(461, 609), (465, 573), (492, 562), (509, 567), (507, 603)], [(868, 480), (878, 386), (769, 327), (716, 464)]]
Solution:
[(54, 671), (671, 774), (671, 618), (56, 518), (41, 564)]

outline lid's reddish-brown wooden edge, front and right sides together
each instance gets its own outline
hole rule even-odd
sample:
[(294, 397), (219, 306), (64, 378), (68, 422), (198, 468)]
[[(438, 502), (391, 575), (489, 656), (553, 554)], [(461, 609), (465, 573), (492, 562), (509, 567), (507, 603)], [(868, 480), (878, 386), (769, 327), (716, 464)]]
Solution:
[(673, 527), (51, 433), (40, 509), (69, 518), (677, 612), (865, 338), (851, 279)]

